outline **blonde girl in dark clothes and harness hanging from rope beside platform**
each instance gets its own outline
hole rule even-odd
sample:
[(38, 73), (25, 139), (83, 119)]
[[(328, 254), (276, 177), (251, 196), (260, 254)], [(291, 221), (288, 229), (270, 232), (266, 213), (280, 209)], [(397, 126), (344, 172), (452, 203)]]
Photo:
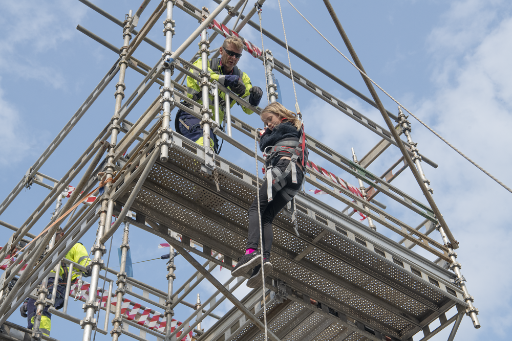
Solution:
[[(272, 220), (301, 189), (305, 178), (308, 151), (301, 120), (282, 104), (273, 102), (263, 109), (261, 120), (265, 131), (260, 137), (260, 150), (266, 154), (266, 179), (260, 189), (260, 216), (263, 235), (264, 271), (272, 270)], [(261, 258), (258, 252), (260, 219), (258, 197), (249, 209), (249, 236), (245, 255), (231, 271), (231, 276), (250, 274), (247, 286), (256, 288), (261, 283)]]

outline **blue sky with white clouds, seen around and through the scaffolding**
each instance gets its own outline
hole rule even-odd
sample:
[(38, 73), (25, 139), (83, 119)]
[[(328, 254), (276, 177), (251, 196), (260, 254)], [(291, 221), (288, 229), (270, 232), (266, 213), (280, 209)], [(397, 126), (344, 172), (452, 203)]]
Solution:
[[(94, 0), (93, 3), (123, 20), (124, 14), (130, 9), (135, 11), (141, 1), (130, 0), (119, 4)], [(210, 11), (217, 6), (207, 0), (193, 0), (191, 3), (199, 8), (206, 6)], [(338, 50), (349, 56), (322, 2), (318, 1), (314, 6), (307, 0), (293, 0), (292, 3)], [(509, 187), (512, 186), (507, 176), (507, 169), (512, 167), (512, 159), (506, 156), (509, 154), (507, 146), (512, 145), (512, 135), (508, 130), (512, 126), (512, 68), (509, 66), (509, 61), (512, 60), (512, 4), (501, 0), (332, 3), (368, 75), (477, 164)], [(138, 29), (142, 27), (156, 4), (156, 1), (150, 3), (141, 17)], [(281, 1), (281, 6), (290, 46), (370, 97), (354, 67), (313, 31), (286, 0)], [(225, 15), (223, 12), (219, 19), (223, 19)], [(161, 33), (163, 19), (164, 17), (157, 21), (149, 35), (160, 44), (164, 44), (165, 41)], [(179, 9), (175, 10), (174, 19), (175, 50), (198, 24), (197, 20)], [(253, 20), (258, 21), (258, 17), (253, 17)], [(265, 29), (284, 40), (276, 0), (265, 2), (262, 22)], [(233, 24), (232, 20), (228, 27), (232, 28)], [(0, 36), (2, 199), (14, 188), (117, 60), (115, 53), (78, 32), (75, 29), (77, 25), (85, 27), (117, 47), (122, 46), (121, 28), (78, 1), (18, 0), (3, 4), (3, 15), (0, 16), (0, 29), (3, 32)], [(245, 27), (240, 33), (261, 47), (259, 31)], [(220, 42), (220, 38), (217, 38), (212, 42), (212, 48), (218, 47)], [(265, 49), (273, 52), (276, 59), (286, 63), (288, 58), (285, 49), (265, 37), (263, 45)], [(194, 42), (182, 56), (190, 59), (196, 51), (197, 45)], [(142, 43), (134, 57), (153, 66), (160, 57), (160, 52)], [(304, 77), (374, 122), (385, 126), (378, 110), (356, 98), (329, 77), (293, 55), (291, 64), (292, 68)], [(260, 61), (245, 53), (239, 67), (251, 77), (253, 85), (264, 89), (264, 71)], [(283, 104), (292, 109), (295, 99), (291, 81), (279, 72), (274, 74), (280, 83)], [(131, 94), (141, 80), (139, 74), (129, 70), (125, 81), (126, 94)], [(40, 169), (41, 173), (61, 178), (83, 150), (92, 143), (113, 115), (116, 82), (117, 76), (75, 126), (65, 143), (59, 146)], [(380, 137), (356, 124), (304, 88), (296, 85), (296, 91), (307, 133), (343, 155), (350, 158), (351, 147), (354, 147), (360, 158), (380, 141)], [(152, 87), (127, 119), (135, 122), (138, 118), (137, 113), (140, 115), (158, 94), (158, 86)], [(392, 100), (380, 91), (378, 95), (388, 110), (397, 112), (397, 105)], [(264, 105), (262, 100), (261, 106)], [(257, 115), (246, 116), (237, 109), (233, 110), (233, 115), (254, 127), (262, 126)], [(482, 327), (474, 329), (471, 320), (466, 316), (455, 339), (508, 339), (506, 335), (512, 321), (512, 275), (511, 271), (507, 270), (510, 266), (507, 265), (506, 259), (509, 256), (507, 245), (512, 243), (512, 234), (506, 217), (512, 204), (512, 193), (464, 160), (414, 118), (409, 117), (409, 121), (412, 124), (413, 141), (418, 143), (420, 152), (439, 165), (436, 169), (426, 164), (423, 164), (423, 167), (434, 189), (433, 197), (452, 233), (460, 242), (457, 249), (458, 261), (462, 264), (462, 273), (467, 280), (468, 290), (475, 299), (474, 304), (480, 310), (479, 319)], [(234, 136), (242, 140), (241, 134), (235, 132)], [(250, 139), (243, 141), (247, 146), (251, 146)], [(226, 146), (221, 156), (254, 172), (253, 159), (245, 154), (240, 155), (232, 147)], [(398, 149), (392, 147), (383, 153), (369, 170), (380, 175), (398, 160), (399, 156)], [(334, 173), (344, 176), (342, 171), (336, 170), (322, 159), (313, 161), (325, 168), (329, 167), (329, 170), (333, 167)], [(343, 178), (349, 183), (356, 184), (355, 178)], [(393, 184), (425, 202), (410, 171), (404, 171)], [(0, 219), (15, 226), (22, 225), (47, 194), (47, 189), (37, 185), (32, 186), (30, 190), (23, 190)], [(339, 202), (327, 196), (318, 198), (337, 209), (344, 208)], [(388, 203), (389, 212), (410, 222), (410, 225), (417, 221), (416, 217), (399, 210), (386, 198), (377, 199)], [(50, 219), (50, 214), (48, 211), (41, 218), (41, 223), (34, 226), (33, 233), (42, 229), (43, 222)], [(379, 233), (392, 237), (382, 226), (377, 226), (377, 229)], [(94, 241), (93, 230), (82, 240), (87, 248)], [(12, 232), (2, 226), (0, 231), (0, 243), (3, 245)], [(134, 262), (157, 258), (164, 253), (162, 249), (157, 248), (158, 243), (163, 242), (161, 239), (136, 228), (132, 228), (130, 233)], [(435, 238), (440, 240), (438, 236)], [(118, 231), (114, 236), (111, 267), (118, 266), (115, 248), (120, 242), (121, 232)], [(505, 263), (501, 264), (501, 260)], [(148, 266), (149, 264), (151, 266)], [(139, 278), (151, 277), (152, 285), (165, 290), (165, 261), (154, 260), (134, 264), (134, 272)], [(191, 266), (178, 256), (177, 286), (193, 272)], [(216, 270), (214, 274), (221, 282), (229, 278), (226, 270)], [(212, 286), (206, 283), (198, 287), (198, 292), (204, 299), (214, 291)], [(243, 286), (237, 290), (237, 295), (242, 297), (247, 292)], [(195, 294), (196, 292), (187, 297), (187, 300), (193, 302)], [(77, 304), (70, 309), (81, 319), (83, 312), (79, 306)], [(187, 309), (177, 308), (176, 318), (180, 321), (185, 320), (190, 314), (190, 310)], [(220, 312), (227, 311), (230, 306), (223, 304), (219, 309)], [(81, 334), (79, 326), (64, 324), (63, 320), (57, 317), (53, 320), (53, 337), (66, 339), (66, 333), (69, 331)], [(17, 312), (13, 313), (10, 321), (25, 324)], [(446, 339), (450, 328), (446, 328), (433, 339)], [(108, 339), (110, 335), (98, 334), (96, 338)], [(421, 337), (415, 337), (419, 338)]]

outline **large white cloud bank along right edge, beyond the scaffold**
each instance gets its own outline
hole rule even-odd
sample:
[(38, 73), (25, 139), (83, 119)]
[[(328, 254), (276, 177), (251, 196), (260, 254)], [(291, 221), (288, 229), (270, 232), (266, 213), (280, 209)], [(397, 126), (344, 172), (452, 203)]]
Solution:
[[(437, 93), (424, 100), (418, 109), (419, 116), (483, 168), (509, 183), (509, 5), (457, 2), (445, 18), (451, 18), (449, 24), (434, 29), (429, 40), (429, 48), (438, 62), (432, 78)], [(429, 172), (436, 190), (434, 198), (461, 242), (458, 253), (465, 265), (463, 274), (470, 294), (475, 297), (475, 306), (482, 312), (482, 330), (474, 331), (467, 319), (458, 337), (480, 339), (484, 333), (488, 339), (505, 339), (505, 331), (512, 324), (512, 275), (501, 271), (502, 265), (493, 259), (508, 258), (507, 245), (512, 242), (512, 235), (502, 212), (507, 212), (512, 203), (510, 193), (431, 133), (417, 129), (415, 135), (419, 142), (429, 141), (419, 145), (421, 151), (437, 153), (439, 170)], [(496, 280), (489, 280), (493, 278)]]

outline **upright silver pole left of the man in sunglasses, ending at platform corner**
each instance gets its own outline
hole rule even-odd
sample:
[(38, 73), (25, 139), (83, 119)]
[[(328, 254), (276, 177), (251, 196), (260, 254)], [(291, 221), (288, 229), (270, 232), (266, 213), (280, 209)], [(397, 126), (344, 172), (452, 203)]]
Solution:
[[(165, 51), (162, 53), (164, 60), (167, 60), (172, 55), (173, 36), (175, 34), (174, 27), (175, 22), (173, 20), (173, 9), (176, 0), (165, 0), (164, 6), (167, 7), (167, 16), (163, 22), (164, 35), (165, 35)], [(162, 115), (162, 127), (160, 128), (160, 161), (167, 162), (169, 156), (169, 136), (172, 130), (169, 128), (170, 122), (170, 107), (173, 104), (174, 86), (171, 82), (171, 77), (174, 73), (174, 64), (168, 64), (168, 67), (164, 69), (164, 85), (160, 90), (162, 98), (163, 115)]]

